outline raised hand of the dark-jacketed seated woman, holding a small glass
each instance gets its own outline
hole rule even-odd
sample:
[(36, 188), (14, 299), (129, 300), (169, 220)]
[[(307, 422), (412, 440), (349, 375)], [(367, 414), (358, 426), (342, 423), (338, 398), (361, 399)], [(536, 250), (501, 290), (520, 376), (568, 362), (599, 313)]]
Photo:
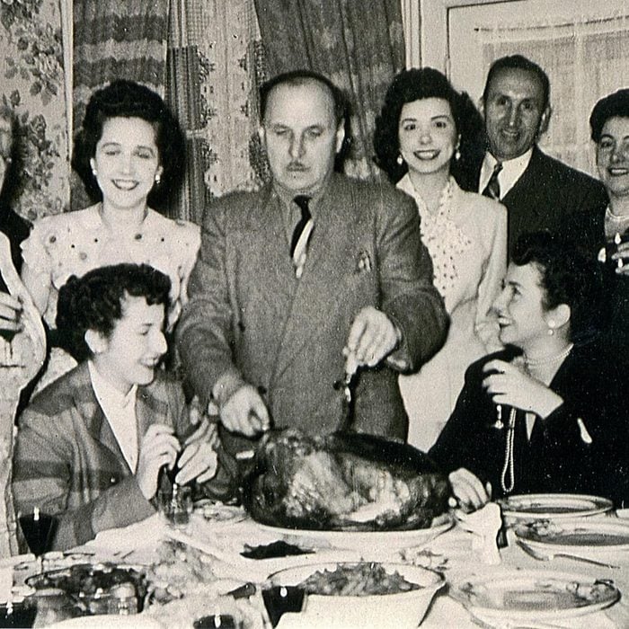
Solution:
[(545, 418), (563, 404), (563, 399), (544, 383), (504, 360), (490, 360), (483, 368), (488, 374), (483, 387), (496, 404), (507, 404)]

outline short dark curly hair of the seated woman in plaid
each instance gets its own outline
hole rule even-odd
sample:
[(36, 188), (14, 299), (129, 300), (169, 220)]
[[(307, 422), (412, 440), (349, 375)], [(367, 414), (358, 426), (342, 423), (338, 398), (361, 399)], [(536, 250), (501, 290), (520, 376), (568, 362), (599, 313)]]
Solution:
[(59, 290), (57, 329), (67, 350), (79, 362), (92, 352), (85, 332), (109, 338), (122, 318), (127, 297), (146, 297), (149, 306), (169, 306), (171, 280), (148, 264), (114, 264), (90, 270), (81, 278), (71, 276)]

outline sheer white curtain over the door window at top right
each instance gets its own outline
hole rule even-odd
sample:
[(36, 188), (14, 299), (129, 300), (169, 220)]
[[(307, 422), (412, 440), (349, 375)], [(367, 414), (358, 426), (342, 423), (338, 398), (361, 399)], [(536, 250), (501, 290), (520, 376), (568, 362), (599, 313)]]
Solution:
[(589, 114), (599, 98), (629, 85), (629, 11), (604, 19), (487, 25), (480, 28), (483, 60), (519, 53), (550, 78), (553, 116), (541, 145), (551, 155), (597, 176)]

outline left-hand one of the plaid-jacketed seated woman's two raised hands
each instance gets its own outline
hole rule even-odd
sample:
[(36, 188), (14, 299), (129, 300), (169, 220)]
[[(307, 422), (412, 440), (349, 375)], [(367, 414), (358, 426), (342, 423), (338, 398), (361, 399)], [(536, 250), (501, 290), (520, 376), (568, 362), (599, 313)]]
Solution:
[(162, 465), (173, 469), (177, 453), (181, 449), (173, 428), (164, 424), (148, 427), (140, 442), (137, 456), (136, 479), (140, 491), (150, 501), (157, 491), (157, 476)]

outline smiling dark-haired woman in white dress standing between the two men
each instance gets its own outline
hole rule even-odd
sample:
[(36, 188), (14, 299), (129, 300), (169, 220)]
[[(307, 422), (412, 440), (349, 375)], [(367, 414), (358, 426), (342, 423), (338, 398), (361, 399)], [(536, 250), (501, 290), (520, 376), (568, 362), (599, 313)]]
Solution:
[(400, 377), (409, 443), (427, 450), (450, 416), (465, 368), (501, 347), (492, 302), (507, 263), (507, 211), (456, 184), (459, 151), (470, 146), (478, 113), (466, 94), (432, 68), (404, 70), (377, 118), (376, 163), (417, 203), (421, 235), (446, 303), (444, 347), (420, 372)]

